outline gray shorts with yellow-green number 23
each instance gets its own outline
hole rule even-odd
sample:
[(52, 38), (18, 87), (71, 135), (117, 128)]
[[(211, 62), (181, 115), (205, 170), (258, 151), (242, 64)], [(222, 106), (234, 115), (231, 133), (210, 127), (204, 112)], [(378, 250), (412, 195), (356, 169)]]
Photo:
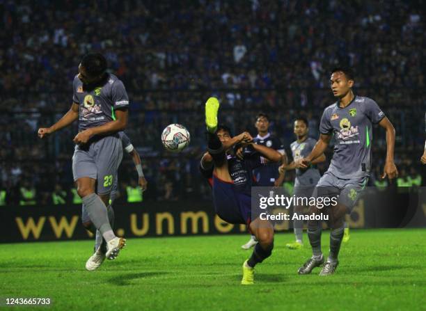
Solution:
[(72, 156), (74, 182), (81, 177), (96, 180), (96, 193), (110, 193), (123, 159), (123, 145), (118, 136), (107, 136), (88, 145), (76, 145)]

